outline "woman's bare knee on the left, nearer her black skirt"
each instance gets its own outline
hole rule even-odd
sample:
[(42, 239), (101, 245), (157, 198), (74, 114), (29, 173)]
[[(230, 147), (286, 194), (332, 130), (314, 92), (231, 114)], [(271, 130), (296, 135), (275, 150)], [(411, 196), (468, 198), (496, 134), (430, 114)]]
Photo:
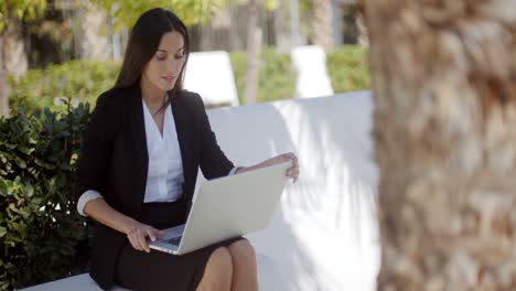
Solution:
[(197, 285), (197, 291), (229, 291), (233, 278), (233, 260), (225, 247), (215, 249), (204, 268), (204, 274)]

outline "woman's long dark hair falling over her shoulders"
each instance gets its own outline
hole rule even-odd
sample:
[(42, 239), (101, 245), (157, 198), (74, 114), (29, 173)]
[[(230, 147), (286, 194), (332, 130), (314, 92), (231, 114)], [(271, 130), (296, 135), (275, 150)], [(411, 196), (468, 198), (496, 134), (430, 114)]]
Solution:
[(175, 85), (169, 90), (165, 104), (162, 108), (170, 104), (170, 98), (172, 96), (181, 94), (183, 89), (184, 68), (190, 55), (189, 31), (178, 15), (161, 8), (154, 8), (143, 12), (135, 23), (135, 26), (132, 26), (123, 55), (123, 63), (118, 74), (117, 82), (115, 83), (115, 88), (139, 86), (143, 67), (158, 51), (161, 36), (172, 31), (176, 31), (183, 35), (183, 52), (185, 58)]

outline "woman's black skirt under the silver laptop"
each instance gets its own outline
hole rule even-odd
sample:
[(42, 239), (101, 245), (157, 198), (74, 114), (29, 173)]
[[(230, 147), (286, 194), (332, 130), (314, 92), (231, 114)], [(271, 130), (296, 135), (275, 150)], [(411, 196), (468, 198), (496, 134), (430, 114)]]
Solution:
[[(185, 212), (183, 200), (173, 203), (146, 203), (140, 222), (158, 229), (170, 228), (185, 223)], [(140, 251), (128, 242), (118, 257), (116, 283), (130, 290), (194, 291), (212, 252), (240, 239), (244, 238), (228, 239), (182, 256), (153, 249), (150, 252)]]

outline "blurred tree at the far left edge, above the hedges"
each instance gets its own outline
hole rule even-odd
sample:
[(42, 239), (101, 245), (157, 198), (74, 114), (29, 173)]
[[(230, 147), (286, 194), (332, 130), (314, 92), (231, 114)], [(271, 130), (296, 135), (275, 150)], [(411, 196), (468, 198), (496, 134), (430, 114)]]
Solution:
[(9, 87), (7, 75), (18, 78), (28, 68), (22, 21), (41, 15), (46, 0), (0, 1), (0, 107), (1, 115), (9, 115)]

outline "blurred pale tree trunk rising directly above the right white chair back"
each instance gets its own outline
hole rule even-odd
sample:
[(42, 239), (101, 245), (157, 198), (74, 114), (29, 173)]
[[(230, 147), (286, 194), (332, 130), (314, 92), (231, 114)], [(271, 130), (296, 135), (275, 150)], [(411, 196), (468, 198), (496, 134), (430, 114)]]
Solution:
[(313, 0), (313, 42), (324, 50), (333, 47), (332, 0)]

